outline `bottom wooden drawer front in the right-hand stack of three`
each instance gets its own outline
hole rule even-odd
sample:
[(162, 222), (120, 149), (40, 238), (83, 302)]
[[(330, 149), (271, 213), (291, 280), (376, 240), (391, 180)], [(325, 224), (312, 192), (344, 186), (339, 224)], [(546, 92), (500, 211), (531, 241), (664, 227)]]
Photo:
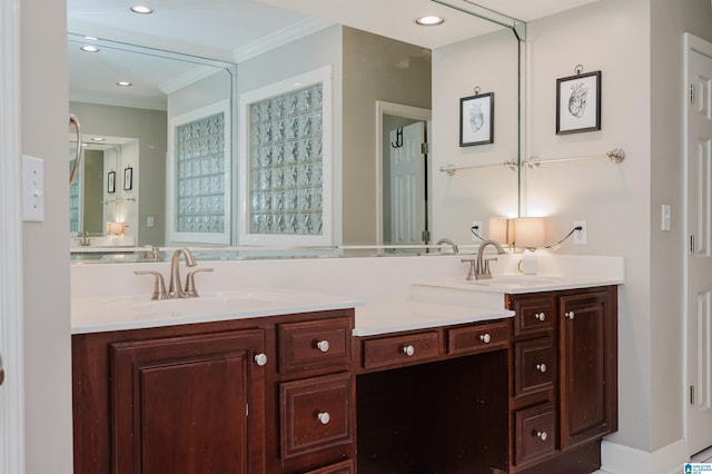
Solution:
[(554, 404), (545, 403), (515, 413), (516, 464), (553, 454), (556, 448)]

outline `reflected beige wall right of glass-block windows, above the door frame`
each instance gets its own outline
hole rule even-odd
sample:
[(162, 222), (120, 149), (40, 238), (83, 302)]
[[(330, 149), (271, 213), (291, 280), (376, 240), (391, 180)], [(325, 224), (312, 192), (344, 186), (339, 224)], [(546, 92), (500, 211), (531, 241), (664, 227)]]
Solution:
[(344, 192), (345, 245), (375, 245), (376, 100), (431, 108), (431, 52), (353, 28), (344, 28)]

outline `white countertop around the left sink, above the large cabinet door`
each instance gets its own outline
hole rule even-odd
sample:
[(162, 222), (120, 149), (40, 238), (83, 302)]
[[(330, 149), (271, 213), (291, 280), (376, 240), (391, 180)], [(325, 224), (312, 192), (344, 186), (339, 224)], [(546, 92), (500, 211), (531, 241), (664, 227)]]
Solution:
[(197, 298), (152, 300), (149, 296), (85, 296), (71, 300), (71, 333), (103, 333), (179, 324), (345, 309), (364, 302), (285, 288), (205, 293)]

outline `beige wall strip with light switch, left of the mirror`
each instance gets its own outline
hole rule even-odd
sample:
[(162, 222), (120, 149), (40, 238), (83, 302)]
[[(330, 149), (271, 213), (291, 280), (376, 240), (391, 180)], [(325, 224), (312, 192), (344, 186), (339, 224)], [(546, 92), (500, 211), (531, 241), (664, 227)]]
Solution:
[(67, 12), (19, 3), (21, 151), (44, 161), (44, 221), (22, 226), (26, 472), (70, 474)]

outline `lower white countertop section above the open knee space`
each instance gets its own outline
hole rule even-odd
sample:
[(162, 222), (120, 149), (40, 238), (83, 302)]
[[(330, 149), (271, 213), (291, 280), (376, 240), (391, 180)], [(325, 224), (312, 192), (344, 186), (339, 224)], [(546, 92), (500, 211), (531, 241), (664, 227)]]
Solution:
[[(503, 302), (504, 303), (504, 302)], [(354, 336), (374, 336), (428, 327), (513, 317), (514, 312), (414, 300), (368, 304), (356, 308)]]

